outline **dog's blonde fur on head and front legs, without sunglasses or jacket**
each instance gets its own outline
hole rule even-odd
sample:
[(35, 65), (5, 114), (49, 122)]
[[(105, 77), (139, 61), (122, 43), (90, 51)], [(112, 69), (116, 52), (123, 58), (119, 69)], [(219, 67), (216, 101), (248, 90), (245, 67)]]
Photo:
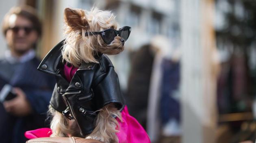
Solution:
[[(106, 44), (100, 35), (85, 36), (86, 32), (100, 32), (104, 29), (117, 29), (115, 16), (110, 11), (100, 11), (92, 8), (91, 11), (82, 9), (65, 8), (65, 34), (67, 36), (62, 49), (63, 60), (79, 67), (82, 61), (89, 63), (98, 61), (94, 56), (98, 53), (115, 55), (124, 50), (121, 37), (116, 36), (111, 44)], [(52, 137), (80, 136), (76, 122), (68, 120), (52, 107), (49, 109), (52, 115)], [(95, 121), (95, 129), (87, 138), (97, 139), (107, 143), (118, 142), (117, 117), (121, 120), (121, 113), (113, 104), (103, 107)]]

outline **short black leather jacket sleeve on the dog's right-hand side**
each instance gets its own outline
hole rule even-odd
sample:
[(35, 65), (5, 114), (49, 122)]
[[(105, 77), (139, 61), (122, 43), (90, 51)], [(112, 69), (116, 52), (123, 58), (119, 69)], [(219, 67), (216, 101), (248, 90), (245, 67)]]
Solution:
[(95, 79), (95, 82), (98, 84), (92, 90), (97, 107), (102, 108), (109, 103), (115, 103), (117, 109), (124, 107), (124, 97), (114, 67), (109, 67), (106, 72)]

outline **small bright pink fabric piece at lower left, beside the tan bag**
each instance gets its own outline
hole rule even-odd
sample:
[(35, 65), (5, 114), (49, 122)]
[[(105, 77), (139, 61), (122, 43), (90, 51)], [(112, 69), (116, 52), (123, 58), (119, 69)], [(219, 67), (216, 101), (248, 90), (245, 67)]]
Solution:
[(39, 128), (36, 130), (28, 130), (24, 135), (27, 139), (50, 137), (50, 135), (52, 135), (52, 130), (50, 128)]

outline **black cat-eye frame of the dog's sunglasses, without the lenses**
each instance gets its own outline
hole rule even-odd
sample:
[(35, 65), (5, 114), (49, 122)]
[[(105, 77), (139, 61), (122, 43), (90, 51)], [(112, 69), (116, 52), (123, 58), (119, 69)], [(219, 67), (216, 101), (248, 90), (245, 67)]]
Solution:
[[(104, 38), (105, 33), (106, 33), (107, 31), (109, 31), (109, 30), (113, 30), (113, 31), (115, 32), (115, 36), (119, 36), (123, 29), (128, 29), (128, 36), (127, 36), (127, 39), (128, 39), (129, 36), (130, 36), (130, 33), (131, 33), (131, 31), (132, 31), (132, 27), (130, 27), (130, 26), (121, 27), (119, 30), (116, 30), (116, 29), (113, 29), (113, 28), (109, 28), (109, 29), (102, 30), (101, 32), (86, 32), (86, 33), (85, 33), (85, 36), (89, 36), (89, 35), (100, 35), (101, 38), (102, 38), (102, 40), (103, 40), (106, 44), (110, 44), (113, 40), (112, 40), (111, 42), (106, 42), (106, 40), (105, 40), (105, 38)], [(121, 37), (121, 36), (120, 36), (120, 37)], [(124, 37), (122, 37), (122, 38), (124, 38)], [(124, 40), (126, 41), (127, 39), (124, 39)]]

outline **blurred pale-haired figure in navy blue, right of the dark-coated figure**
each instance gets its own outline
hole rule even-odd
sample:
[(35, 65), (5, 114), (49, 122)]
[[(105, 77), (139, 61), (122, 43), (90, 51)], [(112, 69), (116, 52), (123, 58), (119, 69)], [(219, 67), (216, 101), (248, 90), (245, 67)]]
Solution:
[(151, 40), (155, 53), (149, 86), (147, 132), (152, 142), (180, 143), (180, 50), (165, 36)]

